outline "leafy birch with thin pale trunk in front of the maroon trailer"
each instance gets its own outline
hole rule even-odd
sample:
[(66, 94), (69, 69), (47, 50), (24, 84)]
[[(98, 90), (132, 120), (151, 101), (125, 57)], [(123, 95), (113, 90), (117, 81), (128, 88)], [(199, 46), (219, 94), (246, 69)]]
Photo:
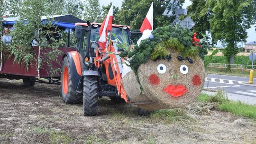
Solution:
[[(47, 13), (46, 5), (47, 2), (44, 0), (23, 0), (21, 3), (23, 9), (18, 11), (20, 20), (14, 25), (15, 29), (11, 32), (12, 43), (8, 46), (9, 53), (14, 56), (14, 60), (17, 63), (23, 63), (27, 69), (30, 65), (37, 63), (38, 77), (40, 77), (39, 69), (42, 67), (42, 59), (47, 63), (61, 54), (58, 50), (59, 45), (62, 45), (61, 41), (57, 42), (51, 37), (50, 29), (55, 28), (52, 20), (48, 19), (48, 22), (45, 21), (44, 24), (41, 21), (42, 16)], [(52, 43), (47, 43), (47, 36)], [(38, 52), (31, 46), (33, 40), (37, 41)], [(45, 53), (43, 53), (44, 49)], [(47, 64), (51, 66), (51, 63)]]

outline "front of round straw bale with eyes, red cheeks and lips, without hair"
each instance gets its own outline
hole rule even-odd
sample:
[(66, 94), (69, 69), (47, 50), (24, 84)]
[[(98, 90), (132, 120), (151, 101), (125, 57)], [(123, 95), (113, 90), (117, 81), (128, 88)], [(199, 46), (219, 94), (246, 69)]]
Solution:
[(204, 64), (199, 56), (189, 57), (193, 61), (190, 63), (188, 59), (179, 60), (179, 52), (173, 49), (168, 51), (171, 60), (150, 60), (141, 64), (138, 77), (149, 99), (169, 108), (180, 108), (200, 94), (205, 81)]

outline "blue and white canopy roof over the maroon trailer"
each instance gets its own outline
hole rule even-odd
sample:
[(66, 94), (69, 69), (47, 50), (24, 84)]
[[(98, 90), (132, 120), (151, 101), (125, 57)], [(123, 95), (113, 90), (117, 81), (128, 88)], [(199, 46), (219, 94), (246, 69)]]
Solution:
[[(48, 18), (53, 18), (53, 24), (58, 27), (65, 27), (65, 28), (75, 28), (76, 22), (85, 23), (80, 18), (77, 18), (73, 15), (56, 15), (56, 16), (44, 16), (41, 18), (41, 21), (44, 23), (48, 21)], [(14, 25), (19, 18), (3, 18), (3, 26), (5, 25)]]

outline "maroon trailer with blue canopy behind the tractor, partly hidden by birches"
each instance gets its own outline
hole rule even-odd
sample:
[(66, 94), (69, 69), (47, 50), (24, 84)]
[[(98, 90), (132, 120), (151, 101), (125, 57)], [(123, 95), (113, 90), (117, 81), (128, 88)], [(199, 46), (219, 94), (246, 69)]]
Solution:
[[(53, 24), (59, 30), (65, 31), (67, 33), (67, 44), (59, 47), (58, 49), (62, 52), (57, 57), (57, 61), (52, 61), (52, 67), (49, 68), (46, 63), (42, 63), (42, 67), (37, 71), (37, 62), (33, 62), (28, 66), (28, 69), (24, 68), (23, 63), (18, 64), (14, 61), (14, 56), (9, 56), (8, 53), (0, 52), (0, 78), (6, 78), (9, 80), (23, 80), (24, 85), (33, 86), (35, 82), (49, 83), (49, 84), (60, 84), (61, 71), (52, 73), (50, 69), (61, 69), (63, 55), (67, 52), (75, 51), (75, 46), (71, 45), (70, 37), (75, 30), (76, 22), (85, 22), (80, 18), (76, 18), (73, 15), (55, 15), (42, 17), (41, 21), (47, 21), (48, 18), (53, 19)], [(18, 18), (3, 18), (2, 25), (4, 27), (13, 28)], [(31, 43), (32, 44), (32, 43)], [(33, 46), (32, 50), (38, 56), (38, 46)], [(46, 49), (41, 50), (41, 53), (44, 54)], [(50, 48), (49, 48), (50, 50)], [(41, 55), (46, 57), (47, 55)], [(39, 75), (39, 77), (38, 77)]]

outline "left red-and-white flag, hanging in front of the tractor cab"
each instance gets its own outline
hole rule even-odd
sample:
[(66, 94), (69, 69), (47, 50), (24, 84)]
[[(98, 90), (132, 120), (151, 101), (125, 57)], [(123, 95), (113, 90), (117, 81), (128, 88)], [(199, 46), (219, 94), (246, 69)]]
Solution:
[(99, 45), (101, 48), (105, 48), (107, 44), (107, 38), (108, 37), (108, 31), (112, 30), (112, 21), (113, 21), (113, 4), (110, 7), (109, 13), (104, 19), (101, 28), (99, 30), (100, 39), (99, 39)]

